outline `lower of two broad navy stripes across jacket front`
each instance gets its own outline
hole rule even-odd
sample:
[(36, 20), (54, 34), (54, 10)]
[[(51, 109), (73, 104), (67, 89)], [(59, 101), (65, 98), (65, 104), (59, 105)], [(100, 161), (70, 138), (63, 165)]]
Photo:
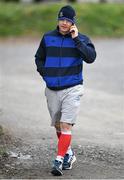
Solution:
[(68, 68), (66, 67), (61, 67), (61, 68), (55, 68), (55, 67), (50, 67), (50, 68), (43, 68), (43, 75), (44, 76), (69, 76), (69, 75), (75, 75), (79, 74), (82, 71), (82, 65), (78, 66), (70, 66)]

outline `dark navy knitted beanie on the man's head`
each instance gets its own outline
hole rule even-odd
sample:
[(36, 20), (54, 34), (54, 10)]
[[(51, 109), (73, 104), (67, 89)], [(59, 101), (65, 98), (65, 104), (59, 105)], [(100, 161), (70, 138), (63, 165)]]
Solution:
[(75, 16), (76, 16), (75, 10), (71, 6), (67, 5), (60, 9), (58, 14), (58, 20), (67, 19), (68, 21), (74, 24)]

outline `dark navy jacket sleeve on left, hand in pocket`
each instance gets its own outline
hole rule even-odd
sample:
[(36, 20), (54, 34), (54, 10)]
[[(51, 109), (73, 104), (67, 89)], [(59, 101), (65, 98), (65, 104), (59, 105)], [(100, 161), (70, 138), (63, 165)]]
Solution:
[(40, 73), (41, 76), (43, 76), (43, 67), (45, 64), (46, 59), (46, 50), (45, 50), (45, 41), (44, 37), (42, 38), (39, 48), (37, 49), (37, 52), (35, 54), (35, 64), (37, 66), (37, 71)]

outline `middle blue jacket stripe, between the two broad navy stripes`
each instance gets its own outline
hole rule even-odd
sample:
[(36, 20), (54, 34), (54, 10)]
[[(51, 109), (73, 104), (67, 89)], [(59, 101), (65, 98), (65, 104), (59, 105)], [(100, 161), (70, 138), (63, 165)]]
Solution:
[(77, 66), (82, 64), (82, 59), (73, 57), (46, 57), (45, 67), (60, 67), (60, 64), (62, 67)]

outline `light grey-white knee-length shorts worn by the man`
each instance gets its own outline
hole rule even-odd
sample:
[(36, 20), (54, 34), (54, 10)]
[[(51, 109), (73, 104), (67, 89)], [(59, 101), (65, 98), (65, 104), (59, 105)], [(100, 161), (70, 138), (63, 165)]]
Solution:
[(59, 91), (50, 90), (46, 87), (45, 96), (52, 120), (51, 125), (55, 126), (58, 121), (75, 124), (82, 95), (83, 85), (76, 85)]

